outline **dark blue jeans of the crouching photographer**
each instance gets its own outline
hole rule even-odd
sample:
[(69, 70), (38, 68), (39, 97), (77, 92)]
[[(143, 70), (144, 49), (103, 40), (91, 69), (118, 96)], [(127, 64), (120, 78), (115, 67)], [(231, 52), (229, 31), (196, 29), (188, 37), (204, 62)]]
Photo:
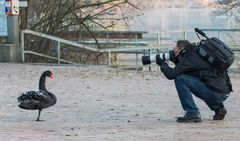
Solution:
[(192, 94), (202, 99), (213, 111), (228, 97), (227, 94), (210, 90), (205, 83), (194, 76), (181, 74), (174, 81), (181, 105), (186, 112), (199, 112)]

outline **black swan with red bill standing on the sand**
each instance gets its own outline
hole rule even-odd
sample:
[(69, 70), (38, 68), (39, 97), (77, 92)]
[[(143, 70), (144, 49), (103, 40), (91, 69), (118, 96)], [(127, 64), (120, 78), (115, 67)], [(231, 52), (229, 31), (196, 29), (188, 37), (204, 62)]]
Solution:
[(51, 71), (45, 71), (39, 80), (39, 91), (29, 91), (22, 93), (17, 99), (20, 104), (18, 105), (22, 109), (26, 110), (38, 110), (38, 117), (36, 121), (39, 121), (42, 109), (48, 108), (57, 102), (57, 98), (54, 94), (47, 91), (45, 82), (46, 77), (53, 79)]

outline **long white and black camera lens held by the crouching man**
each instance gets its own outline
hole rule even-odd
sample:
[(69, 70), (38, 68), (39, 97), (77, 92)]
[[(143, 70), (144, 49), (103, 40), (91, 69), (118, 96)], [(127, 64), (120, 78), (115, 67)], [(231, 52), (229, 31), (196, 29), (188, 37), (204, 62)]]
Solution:
[[(160, 53), (159, 57), (163, 60), (163, 61), (172, 61), (175, 62), (176, 61), (176, 57), (174, 55), (173, 50), (170, 50), (169, 52), (166, 53)], [(142, 63), (143, 65), (148, 65), (151, 64), (153, 62), (157, 61), (157, 55), (147, 55), (147, 56), (142, 56)]]

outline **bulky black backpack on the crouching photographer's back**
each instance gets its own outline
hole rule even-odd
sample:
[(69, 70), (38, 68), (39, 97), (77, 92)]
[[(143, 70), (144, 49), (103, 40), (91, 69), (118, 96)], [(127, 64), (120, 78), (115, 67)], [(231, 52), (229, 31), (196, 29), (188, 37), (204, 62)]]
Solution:
[(198, 44), (198, 54), (220, 72), (227, 71), (234, 62), (232, 49), (216, 37), (208, 38), (198, 28), (195, 28), (195, 32), (206, 38)]

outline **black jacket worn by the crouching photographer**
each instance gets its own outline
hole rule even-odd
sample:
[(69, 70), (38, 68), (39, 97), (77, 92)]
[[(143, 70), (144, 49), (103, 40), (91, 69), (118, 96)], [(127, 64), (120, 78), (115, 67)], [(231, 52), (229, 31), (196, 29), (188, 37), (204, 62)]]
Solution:
[(164, 62), (161, 71), (168, 79), (175, 79), (180, 74), (187, 74), (200, 78), (211, 90), (229, 94), (232, 84), (227, 72), (219, 72), (207, 61), (203, 60), (196, 52), (194, 45), (189, 45), (178, 57), (179, 61), (174, 68)]

